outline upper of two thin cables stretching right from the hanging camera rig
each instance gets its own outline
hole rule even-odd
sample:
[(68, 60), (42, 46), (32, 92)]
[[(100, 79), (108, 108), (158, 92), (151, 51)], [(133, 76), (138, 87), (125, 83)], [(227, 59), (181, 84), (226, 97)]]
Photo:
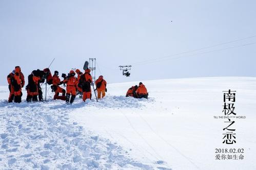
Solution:
[(242, 40), (250, 39), (250, 38), (254, 38), (254, 37), (256, 37), (256, 35), (249, 36), (249, 37), (245, 37), (245, 38), (236, 39), (236, 40), (233, 40), (233, 41), (227, 41), (227, 42), (223, 42), (223, 43), (219, 43), (219, 44), (214, 44), (214, 45), (210, 45), (210, 46), (205, 46), (205, 47), (198, 48), (198, 49), (195, 49), (195, 50), (190, 50), (190, 51), (186, 51), (186, 52), (182, 52), (182, 53), (177, 53), (177, 54), (173, 54), (173, 55), (168, 55), (168, 56), (165, 56), (165, 57), (154, 58), (154, 59), (151, 59), (151, 60), (145, 60), (145, 61), (140, 61), (140, 62), (134, 62), (134, 63), (131, 63), (131, 65), (134, 65), (134, 64), (137, 65), (137, 64), (139, 64), (139, 63), (144, 63), (144, 62), (159, 60), (159, 59), (161, 59), (161, 58), (169, 58), (169, 57), (178, 56), (178, 55), (182, 55), (182, 54), (192, 53), (192, 52), (204, 50), (204, 49), (207, 49), (207, 48), (211, 48), (211, 47), (215, 47), (215, 46), (220, 46), (220, 45), (224, 45), (224, 44), (228, 44), (228, 43), (232, 43), (232, 42), (242, 41)]

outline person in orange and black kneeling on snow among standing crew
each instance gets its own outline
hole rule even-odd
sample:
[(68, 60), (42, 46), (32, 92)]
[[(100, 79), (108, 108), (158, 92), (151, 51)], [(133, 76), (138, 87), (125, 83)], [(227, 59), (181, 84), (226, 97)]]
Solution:
[[(55, 92), (53, 99), (60, 99), (65, 101), (66, 100), (66, 90), (64, 90), (63, 88), (61, 88), (59, 85), (63, 84), (63, 82), (61, 82), (61, 79), (58, 77), (58, 71), (54, 71), (54, 75), (52, 76), (52, 86), (51, 89), (52, 91)], [(58, 94), (62, 93), (62, 96), (59, 96)]]

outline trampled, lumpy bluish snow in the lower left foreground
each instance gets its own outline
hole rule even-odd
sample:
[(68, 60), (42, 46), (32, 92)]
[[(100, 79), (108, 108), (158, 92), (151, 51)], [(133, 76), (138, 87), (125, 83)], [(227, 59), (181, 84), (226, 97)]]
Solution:
[(0, 169), (153, 168), (129, 158), (116, 143), (70, 122), (68, 111), (84, 106), (81, 101), (66, 106), (59, 101), (6, 104), (2, 100)]

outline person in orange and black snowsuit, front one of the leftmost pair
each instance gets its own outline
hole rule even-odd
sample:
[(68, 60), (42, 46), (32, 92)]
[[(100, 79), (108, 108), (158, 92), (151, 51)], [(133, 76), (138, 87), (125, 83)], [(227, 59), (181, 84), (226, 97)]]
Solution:
[(14, 87), (14, 102), (21, 103), (22, 102), (22, 87), (24, 86), (24, 75), (21, 72), (21, 67), (15, 67), (15, 73), (13, 76), (12, 85)]

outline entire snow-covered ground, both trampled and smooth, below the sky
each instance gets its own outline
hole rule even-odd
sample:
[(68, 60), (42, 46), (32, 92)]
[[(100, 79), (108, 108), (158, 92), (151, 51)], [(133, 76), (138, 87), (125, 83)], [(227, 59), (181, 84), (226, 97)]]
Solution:
[[(0, 87), (0, 169), (256, 169), (256, 78), (145, 81), (149, 100), (125, 98), (138, 83), (109, 84), (98, 103), (73, 105), (8, 104)], [(223, 115), (228, 89), (246, 116), (235, 119), (232, 145), (222, 143), (226, 119), (213, 118)], [(242, 148), (245, 157), (215, 160), (219, 148)]]

